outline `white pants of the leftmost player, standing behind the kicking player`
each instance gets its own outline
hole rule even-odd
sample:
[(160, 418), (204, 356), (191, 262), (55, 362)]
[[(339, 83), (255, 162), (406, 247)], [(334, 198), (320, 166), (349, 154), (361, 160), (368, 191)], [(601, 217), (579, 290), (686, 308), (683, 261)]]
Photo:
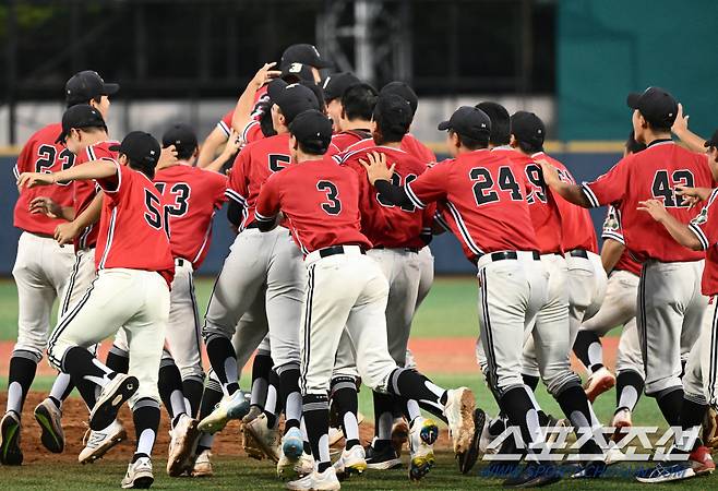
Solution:
[[(74, 254), (50, 237), (22, 232), (12, 276), (17, 285), (17, 343), (14, 351), (25, 351), (35, 361), (43, 359), (51, 331), (55, 299), (62, 299), (70, 278)], [(60, 304), (62, 313), (62, 303)]]

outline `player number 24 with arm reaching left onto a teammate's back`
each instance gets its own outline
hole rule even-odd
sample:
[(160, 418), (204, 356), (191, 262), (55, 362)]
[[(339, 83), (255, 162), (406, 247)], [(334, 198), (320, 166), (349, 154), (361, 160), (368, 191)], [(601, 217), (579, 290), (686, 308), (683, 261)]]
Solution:
[[(524, 338), (548, 298), (548, 273), (537, 252), (526, 202), (529, 188), (524, 173), (505, 156), (487, 148), (491, 120), (480, 109), (460, 107), (439, 129), (448, 130), (447, 144), (455, 158), (434, 165), (404, 187), (390, 183), (393, 169), (380, 159), (368, 167), (369, 180), (395, 205), (424, 208), (443, 202), (446, 225), (479, 268), (479, 325), (489, 384), (524, 441), (530, 448), (541, 447), (545, 434), (535, 423), (538, 408), (520, 376)], [(537, 472), (537, 464), (529, 460), (525, 471), (505, 484), (536, 486), (559, 478), (555, 472)]]

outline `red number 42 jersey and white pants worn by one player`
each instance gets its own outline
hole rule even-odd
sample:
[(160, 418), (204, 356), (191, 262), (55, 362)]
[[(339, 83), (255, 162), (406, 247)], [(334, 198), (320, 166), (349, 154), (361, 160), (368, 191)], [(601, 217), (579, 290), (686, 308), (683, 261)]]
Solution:
[(681, 337), (697, 335), (706, 306), (699, 289), (705, 253), (681, 247), (636, 208), (641, 201), (661, 200), (672, 216), (687, 223), (698, 211), (675, 194), (675, 187), (711, 184), (705, 156), (656, 140), (582, 187), (591, 206), (620, 202), (625, 244), (644, 262), (637, 321), (647, 395), (661, 397), (682, 386)]

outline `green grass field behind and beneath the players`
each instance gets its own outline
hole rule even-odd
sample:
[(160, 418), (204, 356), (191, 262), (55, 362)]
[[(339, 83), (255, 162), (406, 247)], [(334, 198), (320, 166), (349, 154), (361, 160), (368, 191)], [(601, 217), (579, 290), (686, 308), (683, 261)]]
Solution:
[[(198, 299), (203, 309), (206, 306), (212, 291), (212, 279), (201, 279), (196, 284)], [(414, 325), (414, 336), (417, 337), (453, 337), (475, 336), (478, 331), (477, 285), (474, 278), (438, 278), (434, 287), (421, 307)], [(13, 340), (16, 332), (17, 311), (16, 292), (11, 280), (0, 282), (0, 340)], [(431, 376), (429, 373), (428, 375)], [(475, 374), (434, 375), (433, 381), (444, 386), (467, 385), (477, 395), (477, 403), (488, 414), (496, 411), (496, 405), (489, 394), (483, 379), (478, 372)], [(242, 376), (244, 387), (249, 385), (249, 373)], [(47, 391), (51, 379), (40, 376), (33, 386), (37, 391)], [(0, 390), (7, 387), (7, 374), (0, 374)], [(537, 398), (542, 408), (553, 415), (561, 415), (558, 404), (547, 392), (540, 387)], [(615, 404), (614, 392), (601, 396), (594, 405), (599, 418), (609, 422), (613, 415)], [(360, 393), (360, 410), (369, 419), (372, 417), (371, 392), (362, 390)], [(634, 421), (642, 426), (663, 427), (663, 420), (653, 399), (642, 398), (634, 414)], [(279, 489), (280, 483), (274, 478), (273, 467), (266, 463), (256, 463), (247, 458), (222, 458), (217, 459), (217, 475), (212, 480), (198, 481), (188, 479), (169, 479), (164, 474), (165, 463), (161, 459), (155, 462), (155, 477), (157, 481), (153, 489)], [(80, 467), (75, 464), (57, 464), (50, 459), (35, 463), (23, 468), (3, 467), (0, 475), (3, 483), (9, 489), (44, 490), (48, 488), (62, 489), (117, 489), (119, 480), (124, 472), (124, 465), (117, 462), (100, 462), (93, 466)], [(368, 472), (366, 476), (343, 484), (347, 490), (400, 490), (400, 489), (444, 489), (464, 490), (499, 489), (501, 480), (495, 478), (460, 476), (456, 470), (451, 456), (442, 454), (439, 464), (432, 470), (427, 480), (420, 484), (410, 483), (405, 471)], [(641, 484), (631, 479), (631, 469), (627, 467), (612, 467), (611, 477), (598, 481), (576, 481), (565, 479), (557, 484), (563, 489), (633, 489)], [(475, 469), (475, 475), (480, 475), (486, 466)], [(71, 472), (71, 475), (69, 475)], [(59, 484), (58, 484), (59, 483)], [(715, 489), (718, 479), (696, 479), (683, 481), (679, 484), (681, 489)], [(670, 486), (658, 486), (657, 489), (675, 489)]]

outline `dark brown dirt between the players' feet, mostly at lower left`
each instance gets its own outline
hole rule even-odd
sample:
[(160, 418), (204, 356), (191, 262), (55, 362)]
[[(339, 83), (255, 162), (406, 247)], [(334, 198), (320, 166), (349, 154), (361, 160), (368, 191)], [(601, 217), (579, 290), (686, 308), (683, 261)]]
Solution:
[[(77, 462), (77, 455), (84, 447), (82, 443), (83, 435), (87, 430), (87, 408), (79, 397), (71, 397), (64, 403), (62, 415), (62, 427), (65, 434), (65, 447), (62, 454), (51, 454), (40, 443), (40, 428), (35, 421), (33, 409), (43, 400), (45, 394), (31, 392), (25, 403), (23, 411), (21, 446), (24, 454), (24, 464), (47, 462)], [(8, 398), (5, 392), (0, 393), (0, 406), (4, 407)], [(134, 452), (134, 424), (129, 408), (122, 407), (120, 411), (120, 421), (128, 432), (128, 440), (117, 445), (109, 452), (105, 458), (108, 460), (129, 460)], [(373, 436), (373, 423), (366, 421), (359, 427), (362, 442), (370, 442)], [(439, 438), (438, 447), (448, 448), (448, 434), (442, 431)], [(159, 431), (155, 443), (153, 455), (157, 458), (167, 458), (167, 448), (169, 446), (169, 420), (167, 412), (163, 409)], [(239, 422), (231, 421), (224, 431), (217, 434), (213, 451), (216, 455), (222, 456), (247, 456), (241, 446), (241, 434)], [(88, 466), (92, 464), (88, 464)]]

